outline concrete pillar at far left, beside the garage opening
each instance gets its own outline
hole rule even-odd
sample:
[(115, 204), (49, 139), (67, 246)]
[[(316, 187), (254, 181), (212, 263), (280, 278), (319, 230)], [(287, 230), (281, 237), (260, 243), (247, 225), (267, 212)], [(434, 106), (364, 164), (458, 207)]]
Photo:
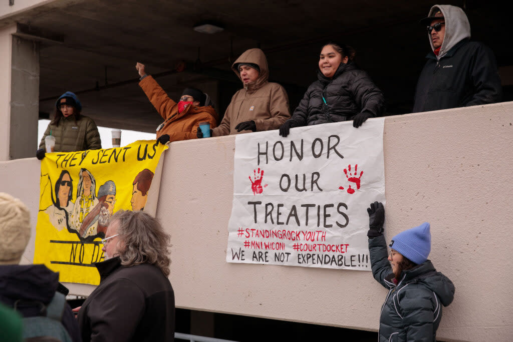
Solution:
[(39, 43), (0, 30), (0, 160), (33, 157), (39, 116)]

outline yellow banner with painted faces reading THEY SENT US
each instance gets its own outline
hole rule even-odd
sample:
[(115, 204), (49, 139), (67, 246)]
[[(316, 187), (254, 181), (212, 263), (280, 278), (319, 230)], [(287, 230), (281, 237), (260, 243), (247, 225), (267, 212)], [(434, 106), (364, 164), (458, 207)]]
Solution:
[(93, 263), (104, 260), (101, 239), (109, 218), (120, 209), (144, 210), (148, 196), (158, 196), (160, 179), (153, 176), (166, 149), (140, 140), (47, 153), (41, 162), (34, 264), (60, 272), (60, 281), (100, 284)]

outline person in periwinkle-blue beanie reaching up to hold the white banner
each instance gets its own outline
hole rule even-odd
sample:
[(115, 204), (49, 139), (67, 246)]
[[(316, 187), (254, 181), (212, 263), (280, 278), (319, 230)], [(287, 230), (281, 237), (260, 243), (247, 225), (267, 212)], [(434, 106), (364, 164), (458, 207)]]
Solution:
[(392, 237), (389, 254), (383, 236), (383, 204), (374, 202), (367, 211), (372, 275), (389, 290), (381, 308), (379, 341), (436, 341), (442, 306), (451, 304), (455, 288), (427, 259), (429, 223)]

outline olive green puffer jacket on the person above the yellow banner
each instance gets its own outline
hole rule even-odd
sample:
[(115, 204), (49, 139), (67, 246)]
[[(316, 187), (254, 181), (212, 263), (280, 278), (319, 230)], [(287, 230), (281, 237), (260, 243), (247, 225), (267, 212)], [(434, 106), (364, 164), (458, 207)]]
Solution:
[(39, 148), (46, 148), (45, 137), (50, 134), (50, 130), (55, 137), (54, 152), (74, 152), (102, 148), (100, 133), (90, 117), (81, 115), (80, 120), (75, 122), (73, 115), (63, 116), (58, 126), (48, 124)]

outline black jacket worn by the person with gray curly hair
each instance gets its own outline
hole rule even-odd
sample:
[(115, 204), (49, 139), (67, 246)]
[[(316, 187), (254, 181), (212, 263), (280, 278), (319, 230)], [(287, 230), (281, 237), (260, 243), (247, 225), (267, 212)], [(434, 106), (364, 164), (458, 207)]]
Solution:
[(96, 268), (100, 285), (78, 313), (84, 342), (174, 340), (173, 288), (158, 267), (124, 267), (115, 257)]

